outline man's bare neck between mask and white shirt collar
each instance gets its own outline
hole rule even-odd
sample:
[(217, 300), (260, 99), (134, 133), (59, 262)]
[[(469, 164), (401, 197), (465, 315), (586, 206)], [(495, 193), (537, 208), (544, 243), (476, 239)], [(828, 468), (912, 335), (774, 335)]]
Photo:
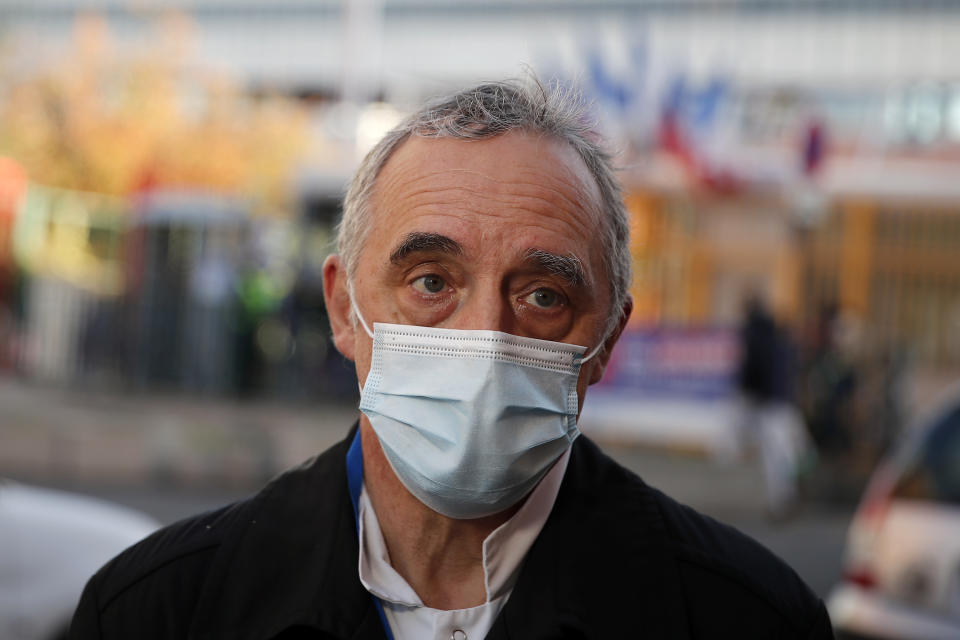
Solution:
[(400, 482), (366, 416), (361, 417), (363, 481), (377, 514), (390, 564), (433, 609), (486, 602), (483, 541), (516, 513), (456, 520), (433, 511)]

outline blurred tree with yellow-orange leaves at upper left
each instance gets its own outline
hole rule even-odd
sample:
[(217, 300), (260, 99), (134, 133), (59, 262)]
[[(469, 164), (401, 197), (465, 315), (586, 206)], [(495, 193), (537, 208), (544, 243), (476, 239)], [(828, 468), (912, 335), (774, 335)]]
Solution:
[(171, 15), (148, 48), (117, 50), (105, 21), (79, 19), (58, 63), (0, 71), (0, 155), (50, 186), (119, 196), (200, 188), (255, 211), (289, 210), (305, 110), (193, 69), (189, 34), (187, 19)]

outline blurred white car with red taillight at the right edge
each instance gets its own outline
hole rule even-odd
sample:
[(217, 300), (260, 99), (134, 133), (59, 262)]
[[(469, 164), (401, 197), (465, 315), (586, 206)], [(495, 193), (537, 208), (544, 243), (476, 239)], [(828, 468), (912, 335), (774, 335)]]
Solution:
[(960, 638), (960, 392), (871, 478), (828, 606), (838, 638)]

